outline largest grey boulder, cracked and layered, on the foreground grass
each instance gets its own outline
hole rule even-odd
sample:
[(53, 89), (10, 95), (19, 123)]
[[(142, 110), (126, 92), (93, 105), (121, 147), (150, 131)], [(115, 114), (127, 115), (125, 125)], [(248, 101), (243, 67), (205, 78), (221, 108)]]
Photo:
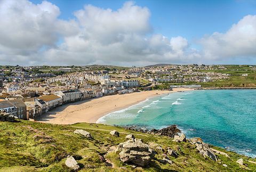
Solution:
[(149, 145), (142, 143), (138, 139), (120, 143), (117, 151), (119, 151), (119, 157), (122, 162), (133, 163), (141, 167), (147, 166), (154, 157), (154, 152), (149, 149)]

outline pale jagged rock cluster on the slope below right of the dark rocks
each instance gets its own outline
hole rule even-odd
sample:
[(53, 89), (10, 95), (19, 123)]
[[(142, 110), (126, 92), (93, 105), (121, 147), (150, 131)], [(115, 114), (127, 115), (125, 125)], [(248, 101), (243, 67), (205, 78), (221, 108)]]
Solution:
[(201, 138), (191, 138), (189, 141), (190, 141), (191, 144), (196, 145), (196, 149), (205, 158), (210, 157), (212, 160), (217, 161), (216, 155), (210, 149), (209, 144), (204, 143)]

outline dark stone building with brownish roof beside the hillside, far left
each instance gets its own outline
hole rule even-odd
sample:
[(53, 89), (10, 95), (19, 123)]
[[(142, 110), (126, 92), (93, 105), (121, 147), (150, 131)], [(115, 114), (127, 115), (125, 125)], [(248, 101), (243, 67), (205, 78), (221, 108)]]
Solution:
[(27, 119), (27, 106), (22, 99), (9, 100), (9, 102), (11, 102), (17, 110), (15, 116), (19, 119)]

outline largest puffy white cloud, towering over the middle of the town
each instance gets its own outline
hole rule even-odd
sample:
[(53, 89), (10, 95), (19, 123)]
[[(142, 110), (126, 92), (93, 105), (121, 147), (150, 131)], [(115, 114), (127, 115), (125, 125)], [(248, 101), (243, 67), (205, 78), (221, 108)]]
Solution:
[[(163, 35), (152, 34), (146, 7), (126, 2), (121, 9), (113, 11), (85, 5), (74, 14), (80, 32), (65, 37), (59, 48), (47, 52), (51, 63), (58, 64), (62, 59), (63, 64), (145, 65), (185, 59), (187, 39), (179, 36), (170, 42)], [(75, 61), (69, 60), (70, 56)]]

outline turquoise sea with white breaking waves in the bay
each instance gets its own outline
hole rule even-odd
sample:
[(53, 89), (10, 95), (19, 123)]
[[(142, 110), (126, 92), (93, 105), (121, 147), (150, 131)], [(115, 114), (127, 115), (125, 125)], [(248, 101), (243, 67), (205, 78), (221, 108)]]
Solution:
[(110, 125), (160, 129), (173, 124), (187, 137), (256, 157), (256, 90), (207, 90), (161, 95), (102, 117)]

